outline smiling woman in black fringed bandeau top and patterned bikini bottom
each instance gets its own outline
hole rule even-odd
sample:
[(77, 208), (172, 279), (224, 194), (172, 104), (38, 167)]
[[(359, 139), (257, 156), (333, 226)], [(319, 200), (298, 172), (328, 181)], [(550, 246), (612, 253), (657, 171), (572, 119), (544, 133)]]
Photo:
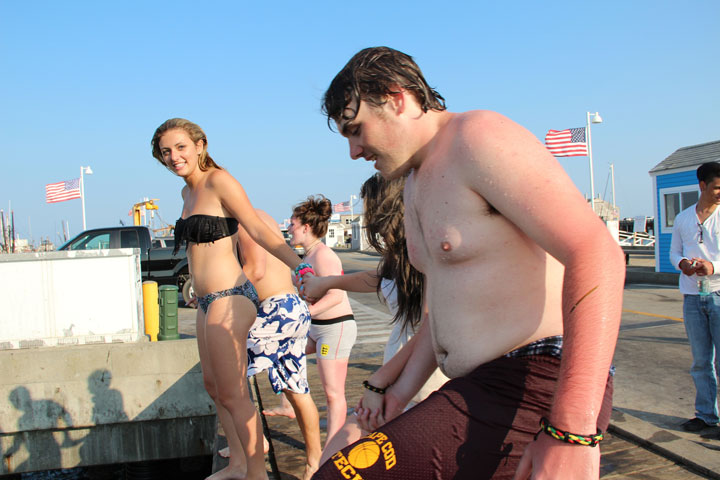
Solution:
[(211, 478), (266, 479), (262, 426), (245, 376), (246, 339), (258, 297), (237, 259), (238, 223), (291, 269), (311, 269), (257, 216), (240, 183), (208, 155), (207, 137), (199, 126), (170, 119), (157, 128), (151, 145), (153, 157), (185, 181), (175, 250), (187, 242), (200, 307), (197, 340), (203, 380), (223, 429), (235, 432), (245, 457), (232, 455), (228, 467)]

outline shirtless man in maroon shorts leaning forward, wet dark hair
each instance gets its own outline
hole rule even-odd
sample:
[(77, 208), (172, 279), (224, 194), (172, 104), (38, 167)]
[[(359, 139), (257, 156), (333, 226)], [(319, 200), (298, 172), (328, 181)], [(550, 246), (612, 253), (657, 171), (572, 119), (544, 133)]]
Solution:
[(607, 428), (621, 315), (622, 251), (562, 167), (502, 115), (445, 110), (414, 61), (385, 47), (356, 54), (323, 108), (353, 159), (409, 174), (429, 328), (399, 376), (384, 366), (369, 379), (386, 389), (385, 420), (436, 362), (451, 380), (313, 478), (598, 478), (599, 448), (533, 440), (541, 417), (583, 436)]

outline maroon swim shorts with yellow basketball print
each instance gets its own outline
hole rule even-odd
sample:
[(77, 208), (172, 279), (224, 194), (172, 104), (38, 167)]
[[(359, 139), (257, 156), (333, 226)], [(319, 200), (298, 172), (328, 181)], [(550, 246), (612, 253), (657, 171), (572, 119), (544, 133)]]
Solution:
[[(560, 359), (551, 355), (481, 365), (333, 455), (313, 479), (512, 479), (550, 411), (559, 370)], [(612, 391), (608, 376), (602, 431), (610, 423)]]

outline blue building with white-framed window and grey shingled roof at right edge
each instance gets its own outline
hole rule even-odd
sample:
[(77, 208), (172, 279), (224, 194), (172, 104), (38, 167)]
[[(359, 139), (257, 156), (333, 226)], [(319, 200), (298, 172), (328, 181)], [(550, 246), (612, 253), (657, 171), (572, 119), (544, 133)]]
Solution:
[(700, 196), (695, 171), (705, 162), (720, 162), (720, 140), (678, 148), (650, 170), (655, 199), (655, 271), (678, 273), (670, 264), (675, 216)]

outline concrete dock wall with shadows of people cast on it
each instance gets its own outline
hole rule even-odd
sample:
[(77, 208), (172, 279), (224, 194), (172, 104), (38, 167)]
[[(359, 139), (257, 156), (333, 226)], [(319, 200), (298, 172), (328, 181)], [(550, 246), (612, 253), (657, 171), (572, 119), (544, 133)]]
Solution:
[(194, 339), (5, 350), (0, 365), (0, 474), (211, 453)]

